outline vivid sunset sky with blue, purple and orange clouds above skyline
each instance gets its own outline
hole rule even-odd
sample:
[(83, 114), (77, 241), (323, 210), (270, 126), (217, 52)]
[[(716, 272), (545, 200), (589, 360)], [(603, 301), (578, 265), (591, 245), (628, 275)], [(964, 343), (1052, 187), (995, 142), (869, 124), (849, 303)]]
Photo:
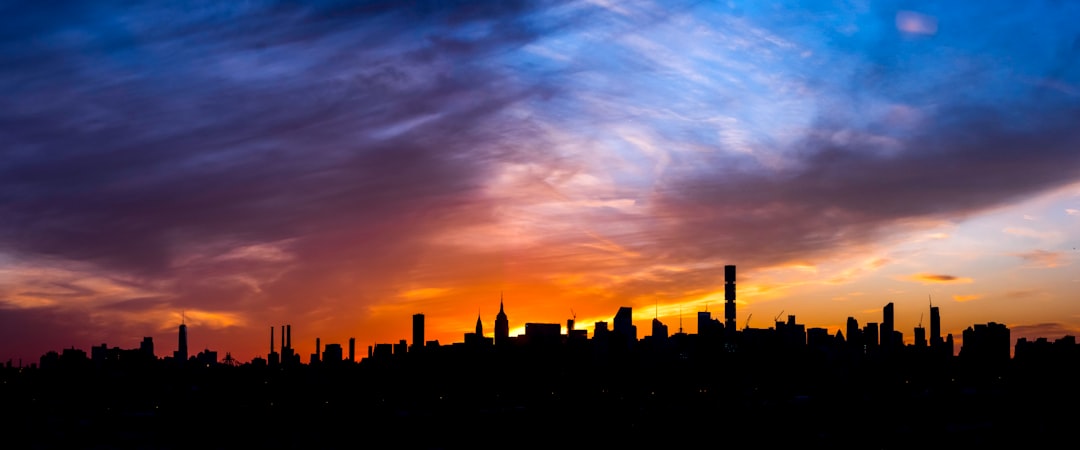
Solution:
[(0, 363), (694, 333), (726, 264), (739, 328), (1080, 335), (1080, 3), (789, 3), (4, 2)]

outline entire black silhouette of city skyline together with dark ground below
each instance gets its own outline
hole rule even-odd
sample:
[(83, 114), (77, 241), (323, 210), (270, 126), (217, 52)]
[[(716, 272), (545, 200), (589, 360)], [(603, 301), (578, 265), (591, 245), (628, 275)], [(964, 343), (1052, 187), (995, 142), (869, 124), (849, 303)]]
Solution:
[[(461, 342), (426, 341), (427, 324), (416, 314), (411, 345), (374, 343), (360, 357), (354, 339), (346, 353), (341, 343), (315, 338), (301, 364), (292, 326), (282, 325), (280, 336), (270, 327), (267, 358), (238, 363), (210, 349), (181, 358), (181, 322), (170, 357), (157, 357), (144, 338), (132, 350), (103, 343), (90, 355), (49, 352), (30, 367), (9, 362), (0, 368), (0, 398), (18, 412), (10, 429), (31, 432), (37, 448), (337, 448), (342, 433), (353, 432), (394, 436), (395, 447), (446, 448), (474, 444), (476, 429), (528, 436), (530, 446), (611, 447), (670, 445), (662, 429), (718, 425), (770, 445), (840, 448), (1018, 438), (1041, 447), (1071, 436), (1071, 418), (1051, 412), (1080, 400), (1080, 347), (1071, 336), (1020, 339), (1010, 357), (1009, 328), (976, 324), (954, 356), (937, 306), (929, 339), (920, 324), (905, 345), (893, 303), (880, 323), (848, 317), (835, 335), (807, 328), (794, 314), (778, 315), (769, 328), (746, 321), (735, 329), (727, 308), (734, 308), (730, 268), (725, 321), (699, 312), (697, 333), (681, 326), (669, 333), (653, 317), (649, 336), (639, 338), (633, 309), (622, 306), (610, 322), (597, 322), (592, 337), (573, 318), (565, 330), (525, 323), (525, 332), (511, 337), (500, 296), (491, 337), (477, 313)], [(921, 412), (865, 413), (886, 410)], [(592, 422), (605, 424), (593, 437), (558, 433)], [(207, 440), (210, 434), (180, 429), (230, 433)]]

